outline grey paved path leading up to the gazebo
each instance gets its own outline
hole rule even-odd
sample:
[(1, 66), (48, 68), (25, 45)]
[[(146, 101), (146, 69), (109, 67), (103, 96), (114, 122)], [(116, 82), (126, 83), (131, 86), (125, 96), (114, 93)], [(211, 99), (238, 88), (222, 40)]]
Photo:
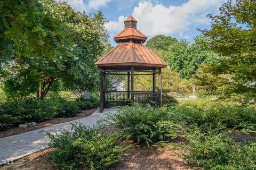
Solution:
[(11, 137), (0, 139), (0, 165), (4, 164), (6, 161), (17, 160), (23, 156), (32, 154), (39, 150), (47, 148), (49, 139), (46, 137), (45, 133), (50, 131), (61, 132), (65, 130), (71, 130), (70, 123), (81, 122), (84, 125), (92, 127), (106, 114), (111, 112), (117, 112), (118, 108), (104, 109), (103, 113), (99, 113), (99, 110), (95, 111), (91, 116), (80, 118), (78, 120), (65, 122), (46, 128), (37, 129), (30, 132), (25, 132)]

